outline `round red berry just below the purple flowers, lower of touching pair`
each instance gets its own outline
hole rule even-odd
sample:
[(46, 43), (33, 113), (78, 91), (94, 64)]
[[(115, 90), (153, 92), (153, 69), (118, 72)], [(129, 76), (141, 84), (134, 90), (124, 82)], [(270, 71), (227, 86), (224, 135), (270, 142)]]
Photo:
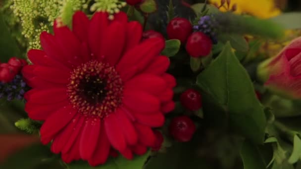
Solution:
[(192, 57), (207, 56), (212, 49), (211, 39), (202, 32), (194, 32), (188, 38), (186, 50)]

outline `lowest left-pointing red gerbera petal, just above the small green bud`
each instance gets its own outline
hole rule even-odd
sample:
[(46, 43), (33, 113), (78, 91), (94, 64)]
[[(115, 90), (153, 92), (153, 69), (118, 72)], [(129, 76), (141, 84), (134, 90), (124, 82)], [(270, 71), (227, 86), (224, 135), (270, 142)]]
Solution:
[(52, 113), (68, 105), (68, 103), (68, 100), (51, 104), (36, 104), (27, 102), (25, 104), (25, 111), (27, 112), (29, 118), (38, 121), (45, 121)]

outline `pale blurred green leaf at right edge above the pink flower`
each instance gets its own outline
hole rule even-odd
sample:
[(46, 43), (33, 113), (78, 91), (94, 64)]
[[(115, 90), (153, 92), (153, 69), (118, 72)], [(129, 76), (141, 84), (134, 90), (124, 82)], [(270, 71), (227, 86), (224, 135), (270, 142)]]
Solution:
[(286, 29), (299, 29), (301, 28), (300, 18), (301, 12), (289, 12), (273, 17), (271, 20), (283, 25)]

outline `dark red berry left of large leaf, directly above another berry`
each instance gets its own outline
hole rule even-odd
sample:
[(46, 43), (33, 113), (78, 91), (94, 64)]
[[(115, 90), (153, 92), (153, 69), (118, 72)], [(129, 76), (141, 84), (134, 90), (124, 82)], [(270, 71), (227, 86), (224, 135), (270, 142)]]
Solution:
[(181, 94), (181, 104), (190, 111), (197, 111), (201, 108), (201, 94), (194, 89), (187, 89)]

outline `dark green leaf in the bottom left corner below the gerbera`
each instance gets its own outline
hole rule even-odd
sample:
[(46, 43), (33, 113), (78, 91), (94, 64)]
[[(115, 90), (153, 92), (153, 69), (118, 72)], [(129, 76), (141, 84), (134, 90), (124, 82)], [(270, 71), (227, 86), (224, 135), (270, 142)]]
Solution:
[(58, 159), (53, 158), (47, 146), (34, 144), (9, 157), (6, 162), (0, 165), (0, 169), (46, 169), (41, 168), (44, 165), (56, 163), (57, 166), (52, 169), (61, 169), (58, 165)]

